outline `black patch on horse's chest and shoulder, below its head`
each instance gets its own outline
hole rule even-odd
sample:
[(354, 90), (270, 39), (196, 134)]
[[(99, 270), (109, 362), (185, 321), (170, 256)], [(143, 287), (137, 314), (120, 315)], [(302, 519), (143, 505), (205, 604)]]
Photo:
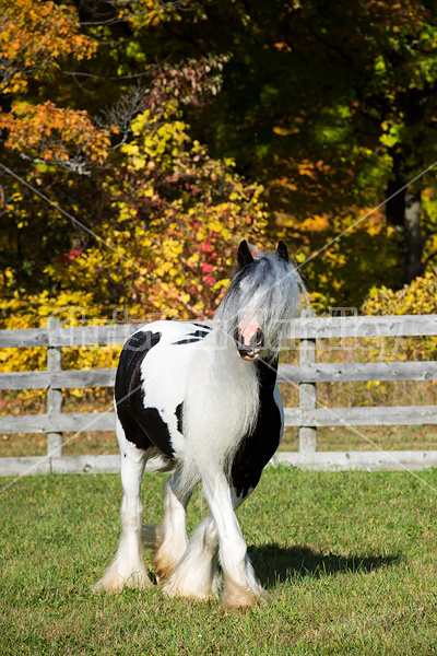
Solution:
[(281, 441), (281, 411), (273, 398), (277, 359), (271, 364), (258, 360), (256, 366), (260, 383), (258, 421), (253, 433), (243, 440), (231, 468), (231, 483), (243, 497), (258, 485), (263, 468)]

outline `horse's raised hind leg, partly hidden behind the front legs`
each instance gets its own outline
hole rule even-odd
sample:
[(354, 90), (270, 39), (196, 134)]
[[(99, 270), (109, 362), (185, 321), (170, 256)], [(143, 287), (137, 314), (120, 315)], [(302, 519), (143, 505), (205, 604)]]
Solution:
[(168, 578), (181, 560), (188, 544), (186, 511), (191, 493), (178, 494), (180, 477), (175, 472), (166, 483), (164, 519), (157, 526), (143, 527), (145, 546), (155, 550), (153, 564), (156, 579)]

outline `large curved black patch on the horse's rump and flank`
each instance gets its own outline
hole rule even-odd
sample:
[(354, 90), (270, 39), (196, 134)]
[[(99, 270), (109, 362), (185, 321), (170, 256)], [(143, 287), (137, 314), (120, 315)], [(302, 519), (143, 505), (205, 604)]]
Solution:
[(118, 363), (115, 399), (126, 438), (138, 448), (156, 446), (172, 458), (174, 450), (167, 424), (156, 408), (144, 408), (141, 364), (161, 340), (161, 332), (139, 331), (126, 342)]

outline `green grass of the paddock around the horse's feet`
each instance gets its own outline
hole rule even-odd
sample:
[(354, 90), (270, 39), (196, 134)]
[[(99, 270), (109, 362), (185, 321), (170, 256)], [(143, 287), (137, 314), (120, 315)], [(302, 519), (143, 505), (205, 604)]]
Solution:
[[(418, 477), (268, 468), (238, 515), (269, 601), (234, 613), (158, 587), (95, 595), (117, 548), (119, 477), (22, 479), (0, 496), (0, 654), (435, 654), (437, 470)], [(163, 481), (144, 479), (149, 522)], [(191, 530), (200, 494), (190, 507)]]

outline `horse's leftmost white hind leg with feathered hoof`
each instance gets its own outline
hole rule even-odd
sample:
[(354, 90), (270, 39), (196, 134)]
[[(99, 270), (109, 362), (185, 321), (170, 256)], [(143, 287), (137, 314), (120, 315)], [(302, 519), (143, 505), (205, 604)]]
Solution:
[(119, 420), (117, 420), (116, 430), (121, 450), (121, 483), (123, 488), (121, 538), (116, 557), (102, 579), (95, 585), (95, 590), (105, 588), (114, 591), (122, 589), (125, 585), (142, 588), (152, 585), (144, 567), (141, 543), (143, 517), (141, 481), (147, 454), (126, 440)]

